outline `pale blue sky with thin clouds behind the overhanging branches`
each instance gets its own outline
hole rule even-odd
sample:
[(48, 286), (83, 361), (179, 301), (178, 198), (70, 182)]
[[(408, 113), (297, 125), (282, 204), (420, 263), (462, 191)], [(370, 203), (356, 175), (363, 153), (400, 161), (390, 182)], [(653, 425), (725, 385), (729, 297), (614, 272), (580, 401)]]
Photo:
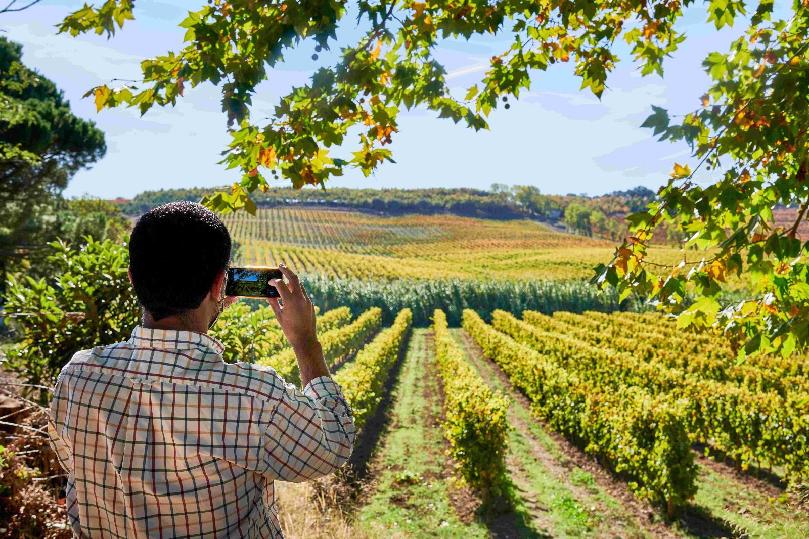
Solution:
[[(110, 79), (138, 79), (142, 59), (180, 49), (183, 31), (177, 24), (187, 10), (199, 9), (202, 0), (138, 0), (136, 20), (111, 40), (57, 36), (54, 25), (81, 4), (43, 0), (26, 11), (0, 15), (4, 35), (23, 45), (23, 62), (57, 83), (74, 112), (95, 121), (107, 136), (107, 155), (90, 170), (78, 172), (66, 195), (131, 197), (145, 189), (210, 187), (238, 180), (238, 173), (217, 164), (228, 136), (219, 92), (212, 85), (187, 87), (175, 108), (153, 108), (144, 117), (124, 108), (96, 113), (89, 98), (81, 99), (89, 88)], [(623, 50), (624, 62), (608, 79), (600, 101), (579, 90), (581, 81), (572, 74), (572, 65), (557, 64), (536, 72), (531, 91), (511, 99), (509, 110), (494, 111), (490, 131), (475, 133), (426, 110), (403, 112), (400, 133), (391, 146), (396, 164), (385, 164), (369, 178), (349, 171), (330, 185), (488, 188), (499, 182), (536, 185), (543, 193), (591, 195), (635, 185), (656, 189), (675, 161), (691, 159), (684, 145), (656, 142), (639, 125), (652, 104), (672, 113), (699, 107), (699, 96), (709, 83), (702, 58), (709, 51), (726, 50), (743, 31), (737, 24), (716, 32), (705, 19), (704, 6), (686, 12), (680, 28), (688, 39), (667, 59), (664, 79), (641, 77), (629, 51)], [(346, 35), (355, 34), (354, 19), (344, 20)], [(443, 42), (438, 57), (447, 67), (453, 92), (462, 97), (479, 81), (488, 59), (502, 52), (505, 43), (491, 38)], [(262, 83), (254, 99), (253, 117), (267, 116), (262, 111), (271, 111), (278, 95), (307, 80), (316, 67), (310, 58), (313, 47), (305, 42), (270, 73), (271, 80)], [(328, 59), (321, 54), (319, 62)], [(332, 155), (340, 152), (332, 150)]]

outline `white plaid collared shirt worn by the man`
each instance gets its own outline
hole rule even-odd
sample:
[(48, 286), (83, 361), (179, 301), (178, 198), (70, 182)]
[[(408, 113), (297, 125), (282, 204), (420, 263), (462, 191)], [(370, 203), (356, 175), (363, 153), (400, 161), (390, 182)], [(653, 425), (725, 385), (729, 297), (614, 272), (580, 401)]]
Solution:
[(74, 355), (51, 402), (75, 537), (282, 537), (273, 481), (323, 477), (354, 447), (339, 385), (303, 393), (222, 343), (136, 327)]

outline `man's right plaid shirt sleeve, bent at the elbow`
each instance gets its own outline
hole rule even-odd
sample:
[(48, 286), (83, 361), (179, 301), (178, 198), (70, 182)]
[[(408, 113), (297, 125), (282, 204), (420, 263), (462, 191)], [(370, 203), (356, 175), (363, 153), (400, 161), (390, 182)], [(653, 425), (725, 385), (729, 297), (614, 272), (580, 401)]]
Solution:
[(286, 384), (270, 418), (265, 475), (303, 482), (339, 469), (354, 449), (354, 416), (342, 388), (328, 376), (303, 392)]

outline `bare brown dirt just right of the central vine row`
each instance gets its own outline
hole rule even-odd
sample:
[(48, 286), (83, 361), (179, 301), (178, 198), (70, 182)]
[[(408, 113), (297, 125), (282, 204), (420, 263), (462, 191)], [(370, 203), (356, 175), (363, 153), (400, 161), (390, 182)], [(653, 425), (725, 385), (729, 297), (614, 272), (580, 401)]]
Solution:
[[(467, 351), (468, 358), (470, 361), (472, 361), (472, 364), (476, 365), (477, 370), (481, 372), (481, 376), (486, 379), (486, 370), (481, 369), (480, 362), (489, 362), (489, 360), (484, 358), (483, 350), (481, 350), (480, 346), (477, 346), (477, 342), (474, 341), (471, 335), (465, 331), (462, 334), (464, 341), (463, 344)], [(506, 376), (506, 373), (503, 372), (496, 363), (489, 362), (489, 364), (491, 367), (493, 367), (493, 371), (496, 373), (496, 376), (498, 376), (498, 379), (502, 382), (502, 384), (504, 384), (506, 388), (509, 388), (509, 396), (515, 402), (515, 404), (530, 410), (531, 402), (528, 401), (527, 397), (525, 397), (523, 393), (519, 393), (519, 391), (511, 387), (511, 382), (508, 376)], [(525, 422), (521, 421), (519, 418), (514, 418), (513, 421), (514, 427), (522, 431), (527, 439), (529, 439), (532, 446), (533, 456), (535, 456), (537, 460), (540, 460), (541, 464), (544, 466), (544, 469), (546, 469), (548, 473), (553, 475), (553, 477), (557, 477), (560, 482), (565, 483), (565, 486), (570, 488), (572, 492), (576, 493), (577, 490), (578, 492), (581, 492), (580, 488), (572, 485), (568, 480), (568, 477), (570, 477), (570, 472), (574, 468), (578, 467), (590, 473), (595, 479), (595, 483), (602, 490), (621, 502), (625, 511), (629, 517), (633, 519), (634, 523), (637, 524), (638, 528), (642, 529), (646, 533), (649, 533), (653, 537), (663, 537), (665, 539), (679, 539), (681, 537), (679, 534), (674, 533), (671, 528), (668, 528), (666, 524), (663, 524), (663, 522), (654, 522), (654, 517), (657, 514), (657, 512), (654, 511), (654, 508), (649, 507), (646, 505), (646, 503), (642, 503), (631, 492), (629, 492), (629, 489), (625, 483), (616, 480), (615, 477), (612, 477), (612, 475), (608, 473), (608, 471), (605, 470), (601, 465), (595, 462), (591, 456), (588, 456), (587, 453), (575, 447), (573, 444), (570, 444), (570, 442), (565, 439), (564, 436), (552, 431), (549, 427), (547, 427), (546, 424), (544, 424), (544, 422), (536, 420), (543, 427), (543, 430), (547, 433), (547, 435), (549, 435), (549, 437), (557, 445), (557, 448), (561, 452), (562, 456), (564, 456), (564, 460), (558, 459), (556, 456), (549, 454), (549, 452), (542, 448), (536, 438), (530, 434), (529, 427)], [(608, 510), (604, 511), (604, 519), (607, 520), (608, 527), (616, 532), (614, 537), (625, 537), (625, 535), (621, 534), (621, 529), (625, 529), (625, 524), (621, 522), (620, 519), (610, 516)], [(722, 535), (709, 535), (709, 537), (722, 537)]]

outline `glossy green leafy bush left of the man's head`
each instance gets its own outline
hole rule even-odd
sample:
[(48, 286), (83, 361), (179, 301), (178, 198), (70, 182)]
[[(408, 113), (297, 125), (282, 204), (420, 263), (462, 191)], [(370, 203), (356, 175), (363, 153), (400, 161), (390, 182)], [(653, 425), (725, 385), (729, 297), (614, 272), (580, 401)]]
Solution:
[[(10, 276), (6, 282), (5, 310), (19, 325), (21, 339), (6, 352), (3, 367), (28, 384), (53, 384), (78, 350), (129, 337), (140, 312), (124, 245), (87, 238), (78, 248), (61, 240), (49, 248), (49, 262), (57, 269), (52, 277)], [(40, 392), (40, 400), (47, 397)]]

